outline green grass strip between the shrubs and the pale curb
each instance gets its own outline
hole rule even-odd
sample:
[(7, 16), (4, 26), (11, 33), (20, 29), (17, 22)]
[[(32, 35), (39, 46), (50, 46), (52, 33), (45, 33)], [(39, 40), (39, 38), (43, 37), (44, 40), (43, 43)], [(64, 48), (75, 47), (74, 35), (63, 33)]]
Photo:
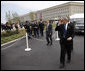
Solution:
[(25, 36), (25, 33), (25, 30), (20, 30), (18, 34), (10, 35), (7, 37), (1, 36), (1, 44), (23, 37)]

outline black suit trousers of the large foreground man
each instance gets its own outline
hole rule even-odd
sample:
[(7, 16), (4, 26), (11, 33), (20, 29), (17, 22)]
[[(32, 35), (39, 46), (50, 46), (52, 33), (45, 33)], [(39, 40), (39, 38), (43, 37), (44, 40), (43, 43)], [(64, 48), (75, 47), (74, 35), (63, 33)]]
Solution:
[(71, 60), (72, 41), (67, 41), (66, 39), (61, 39), (60, 46), (61, 46), (60, 63), (65, 64), (66, 54), (67, 54), (67, 60)]

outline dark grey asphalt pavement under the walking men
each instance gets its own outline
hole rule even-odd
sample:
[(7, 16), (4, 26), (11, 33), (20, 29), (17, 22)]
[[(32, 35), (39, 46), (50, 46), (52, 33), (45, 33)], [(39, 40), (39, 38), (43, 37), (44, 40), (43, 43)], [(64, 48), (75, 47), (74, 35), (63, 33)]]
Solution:
[(1, 49), (2, 70), (84, 70), (84, 36), (74, 37), (72, 61), (59, 69), (60, 45), (53, 39), (53, 45), (47, 46), (45, 37), (29, 40), (32, 49), (25, 52), (26, 38), (18, 40)]

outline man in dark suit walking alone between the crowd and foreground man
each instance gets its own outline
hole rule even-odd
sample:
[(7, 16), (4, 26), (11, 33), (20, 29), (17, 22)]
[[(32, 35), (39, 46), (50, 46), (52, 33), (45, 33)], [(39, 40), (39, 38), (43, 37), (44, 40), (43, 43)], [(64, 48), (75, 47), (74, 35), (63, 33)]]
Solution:
[(49, 21), (47, 21), (47, 26), (46, 26), (46, 40), (47, 40), (47, 45), (49, 43), (50, 45), (52, 45), (52, 24)]

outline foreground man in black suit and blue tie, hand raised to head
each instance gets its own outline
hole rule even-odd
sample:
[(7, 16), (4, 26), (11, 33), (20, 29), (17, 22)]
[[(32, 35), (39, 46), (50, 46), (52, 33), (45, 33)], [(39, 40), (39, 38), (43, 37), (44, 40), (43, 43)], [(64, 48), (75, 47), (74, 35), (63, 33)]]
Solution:
[(67, 18), (59, 20), (58, 25), (56, 26), (56, 31), (59, 31), (60, 37), (60, 68), (65, 66), (65, 54), (67, 53), (67, 63), (71, 61), (71, 49), (73, 45), (74, 37), (74, 24), (68, 22)]

